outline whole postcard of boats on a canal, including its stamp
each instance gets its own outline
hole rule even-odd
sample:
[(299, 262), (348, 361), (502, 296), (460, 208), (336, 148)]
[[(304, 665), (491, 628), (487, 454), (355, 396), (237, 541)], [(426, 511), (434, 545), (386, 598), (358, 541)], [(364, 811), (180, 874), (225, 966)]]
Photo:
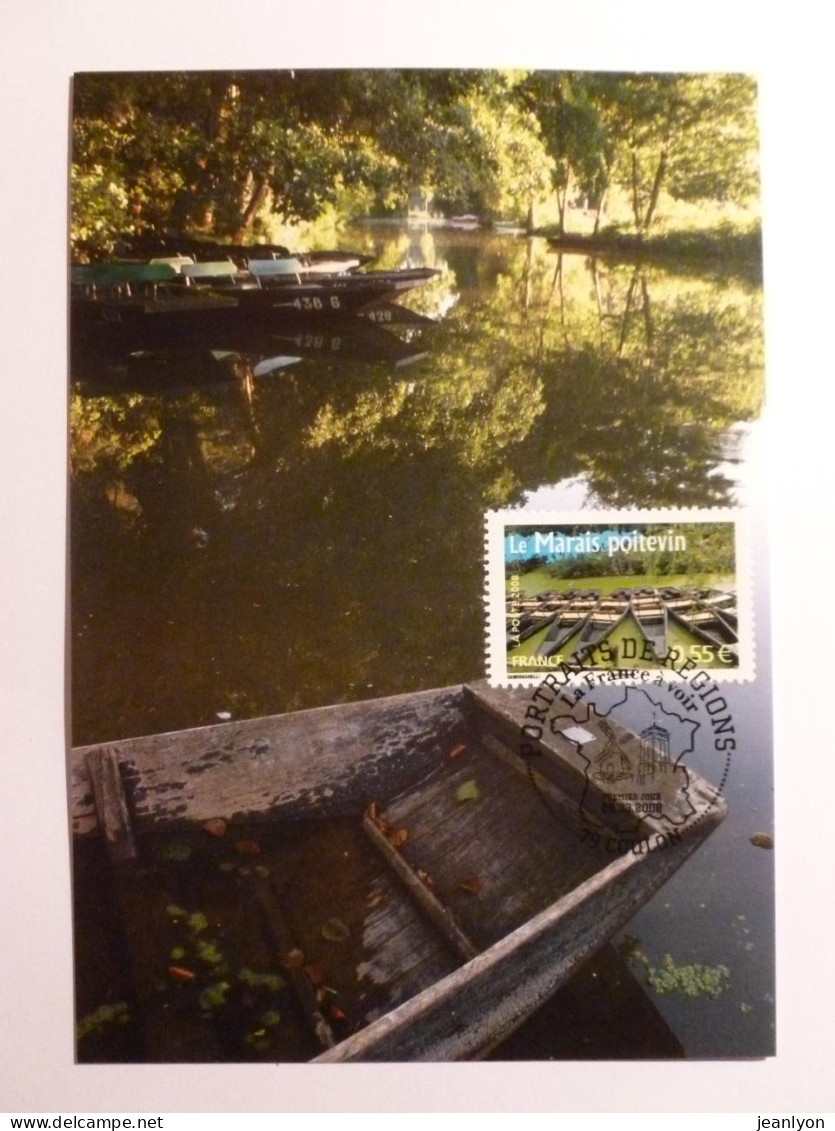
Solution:
[(755, 81), (71, 129), (78, 1062), (773, 1054)]

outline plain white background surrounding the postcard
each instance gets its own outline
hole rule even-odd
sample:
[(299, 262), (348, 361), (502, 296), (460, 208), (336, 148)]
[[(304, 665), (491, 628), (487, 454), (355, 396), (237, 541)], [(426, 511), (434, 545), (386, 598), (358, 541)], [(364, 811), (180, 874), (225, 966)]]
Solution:
[[(0, 9), (0, 1106), (18, 1112), (835, 1107), (830, 36), (739, 2), (5, 0)], [(777, 724), (778, 1055), (723, 1064), (72, 1064), (64, 787), (66, 235), (76, 70), (537, 66), (760, 79)], [(827, 336), (828, 337), (828, 336)], [(825, 399), (821, 387), (827, 387)], [(797, 589), (794, 588), (797, 586)], [(817, 595), (816, 595), (817, 594)], [(801, 619), (802, 618), (802, 619)], [(756, 1129), (756, 1122), (751, 1123)]]

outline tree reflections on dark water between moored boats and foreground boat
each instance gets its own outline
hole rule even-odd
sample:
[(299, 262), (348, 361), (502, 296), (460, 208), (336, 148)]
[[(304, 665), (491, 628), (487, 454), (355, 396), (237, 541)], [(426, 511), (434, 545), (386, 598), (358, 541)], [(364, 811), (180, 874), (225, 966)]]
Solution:
[(250, 396), (77, 402), (76, 607), (107, 619), (81, 624), (76, 741), (477, 676), (483, 511), (542, 485), (729, 501), (755, 290), (520, 244), (467, 299), (404, 373), (316, 361)]

